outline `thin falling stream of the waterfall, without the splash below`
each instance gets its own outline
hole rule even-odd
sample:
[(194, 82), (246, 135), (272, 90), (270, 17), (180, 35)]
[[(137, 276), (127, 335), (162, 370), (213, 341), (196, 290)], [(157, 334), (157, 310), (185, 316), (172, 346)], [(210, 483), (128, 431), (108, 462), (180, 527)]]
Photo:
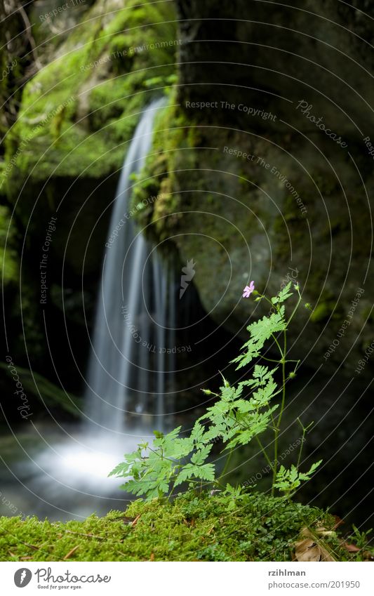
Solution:
[(171, 268), (136, 230), (131, 211), (132, 175), (145, 164), (162, 105), (163, 100), (152, 102), (135, 129), (105, 245), (85, 414), (88, 425), (112, 432), (124, 432), (129, 418), (132, 428), (140, 427), (149, 414), (162, 430), (165, 393), (171, 389), (173, 361), (167, 352), (175, 328), (175, 284)]

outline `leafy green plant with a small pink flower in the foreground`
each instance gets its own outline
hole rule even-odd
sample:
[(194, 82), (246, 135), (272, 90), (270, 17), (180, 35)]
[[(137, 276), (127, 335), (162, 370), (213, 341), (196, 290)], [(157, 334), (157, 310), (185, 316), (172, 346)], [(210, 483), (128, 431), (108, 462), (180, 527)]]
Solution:
[[(292, 312), (286, 317), (286, 301), (293, 296), (291, 282), (271, 299), (254, 291), (254, 284), (246, 286), (243, 297), (253, 293), (256, 301), (267, 300), (271, 312), (262, 319), (248, 325), (248, 341), (242, 346), (241, 354), (232, 362), (237, 369), (251, 364), (256, 359), (272, 362), (273, 368), (267, 365), (255, 364), (251, 378), (232, 386), (223, 378), (220, 393), (203, 390), (206, 395), (217, 397), (213, 406), (209, 407), (203, 416), (196, 420), (189, 437), (181, 436), (181, 427), (175, 428), (167, 435), (154, 432), (156, 438), (152, 445), (141, 443), (138, 449), (125, 456), (125, 461), (110, 472), (126, 478), (121, 488), (137, 496), (145, 495), (147, 500), (164, 495), (171, 496), (176, 487), (187, 482), (190, 489), (202, 489), (207, 483), (217, 489), (225, 488), (224, 496), (229, 500), (229, 508), (235, 508), (237, 501), (242, 498), (241, 487), (223, 486), (222, 478), (229, 468), (232, 452), (236, 447), (246, 445), (255, 439), (258, 442), (270, 469), (272, 470), (272, 496), (278, 489), (283, 496), (290, 498), (302, 482), (310, 479), (320, 461), (312, 465), (308, 472), (300, 472), (302, 444), (308, 428), (302, 426), (302, 442), (298, 462), (289, 470), (281, 465), (279, 468), (278, 449), (281, 420), (286, 405), (286, 383), (295, 376), (299, 360), (287, 359), (287, 330), (295, 312), (301, 303), (298, 284), (295, 284), (298, 294)], [(279, 359), (267, 357), (263, 353), (268, 340), (279, 350)], [(293, 370), (288, 373), (287, 366), (292, 364)], [(281, 383), (277, 385), (274, 377), (281, 369)], [(274, 398), (280, 395), (280, 404), (274, 403)], [(301, 423), (300, 423), (301, 424)], [(274, 433), (272, 455), (263, 446), (260, 435), (271, 429)], [(228, 451), (225, 468), (220, 477), (215, 476), (215, 465), (208, 463), (213, 443), (220, 441), (224, 451)]]

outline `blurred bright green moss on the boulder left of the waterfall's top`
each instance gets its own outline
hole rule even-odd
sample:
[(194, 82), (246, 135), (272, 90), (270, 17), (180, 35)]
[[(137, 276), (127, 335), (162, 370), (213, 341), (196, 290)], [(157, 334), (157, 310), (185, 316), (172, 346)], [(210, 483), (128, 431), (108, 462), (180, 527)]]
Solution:
[(6, 146), (11, 196), (28, 174), (38, 181), (82, 172), (103, 178), (118, 170), (142, 107), (173, 74), (171, 3), (132, 0), (121, 10), (109, 8), (96, 3), (58, 57), (25, 86)]

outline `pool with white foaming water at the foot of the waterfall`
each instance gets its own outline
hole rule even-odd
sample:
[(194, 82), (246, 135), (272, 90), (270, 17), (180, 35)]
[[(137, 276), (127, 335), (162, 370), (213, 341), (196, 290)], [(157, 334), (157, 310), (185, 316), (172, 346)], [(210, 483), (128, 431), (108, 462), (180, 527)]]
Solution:
[(124, 510), (131, 496), (108, 474), (146, 437), (141, 430), (113, 438), (43, 423), (3, 431), (0, 515), (65, 520)]

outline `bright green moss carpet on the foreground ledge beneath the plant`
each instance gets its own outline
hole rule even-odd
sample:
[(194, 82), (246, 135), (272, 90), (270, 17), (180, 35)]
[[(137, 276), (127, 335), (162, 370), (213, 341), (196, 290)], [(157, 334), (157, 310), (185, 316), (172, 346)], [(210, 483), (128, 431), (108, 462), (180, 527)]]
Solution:
[[(244, 496), (227, 511), (227, 498), (187, 494), (173, 501), (135, 501), (126, 512), (91, 515), (84, 522), (0, 518), (0, 560), (58, 561), (290, 561), (300, 530), (335, 520), (317, 508), (265, 495)], [(347, 559), (335, 532), (323, 541)]]

